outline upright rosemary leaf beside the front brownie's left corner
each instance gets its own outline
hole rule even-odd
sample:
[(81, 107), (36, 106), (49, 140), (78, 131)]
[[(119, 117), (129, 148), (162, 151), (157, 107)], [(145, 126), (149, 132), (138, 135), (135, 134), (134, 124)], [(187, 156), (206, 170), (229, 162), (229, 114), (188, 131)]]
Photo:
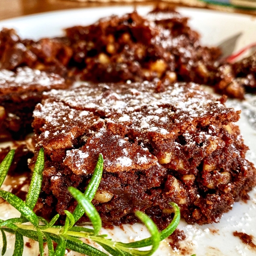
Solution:
[(34, 209), (41, 191), (44, 170), (44, 148), (40, 148), (37, 160), (35, 162), (35, 169), (31, 178), (29, 191), (26, 197), (26, 204), (30, 209)]

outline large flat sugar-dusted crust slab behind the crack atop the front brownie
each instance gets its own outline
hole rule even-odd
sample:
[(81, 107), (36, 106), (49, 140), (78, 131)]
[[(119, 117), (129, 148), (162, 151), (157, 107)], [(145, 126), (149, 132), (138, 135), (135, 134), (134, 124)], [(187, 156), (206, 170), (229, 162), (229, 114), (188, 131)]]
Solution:
[[(156, 81), (157, 82), (157, 81)], [(45, 93), (79, 111), (101, 113), (106, 122), (128, 122), (129, 128), (146, 134), (172, 137), (177, 123), (192, 122), (206, 116), (226, 115), (226, 108), (197, 84), (165, 84), (164, 92), (156, 92), (156, 82), (126, 84), (84, 83), (73, 90)]]

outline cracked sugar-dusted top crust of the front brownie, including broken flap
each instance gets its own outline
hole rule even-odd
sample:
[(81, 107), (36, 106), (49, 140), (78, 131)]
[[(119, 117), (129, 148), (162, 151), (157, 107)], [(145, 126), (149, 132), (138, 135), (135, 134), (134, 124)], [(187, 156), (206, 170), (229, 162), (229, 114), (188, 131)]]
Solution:
[[(157, 91), (159, 86), (162, 87), (160, 92)], [(225, 116), (223, 124), (238, 118), (238, 112), (226, 108), (193, 83), (145, 81), (129, 86), (84, 83), (73, 90), (51, 90), (44, 93), (44, 98), (34, 111), (35, 128), (37, 122), (44, 123), (40, 128), (39, 145), (46, 148), (52, 148), (53, 143), (58, 144), (55, 148), (61, 147), (61, 143), (73, 146), (78, 136), (86, 138), (85, 145), (67, 151), (64, 160), (76, 174), (93, 172), (99, 153), (105, 157), (108, 172), (140, 169), (141, 163), (148, 168), (166, 154), (166, 147), (174, 148), (174, 140), (180, 132), (184, 133), (186, 147), (194, 148), (195, 135), (189, 132), (186, 135), (186, 131), (195, 130), (200, 123), (213, 125), (219, 122), (218, 116)], [(156, 158), (145, 153), (140, 145), (129, 143), (125, 134), (139, 143), (151, 143), (152, 138), (168, 141), (158, 147)], [(206, 135), (199, 141), (199, 134), (196, 140), (207, 148), (213, 139)], [(217, 143), (218, 138), (214, 140)], [(135, 145), (136, 150), (132, 149)], [(136, 151), (138, 154), (132, 153)]]

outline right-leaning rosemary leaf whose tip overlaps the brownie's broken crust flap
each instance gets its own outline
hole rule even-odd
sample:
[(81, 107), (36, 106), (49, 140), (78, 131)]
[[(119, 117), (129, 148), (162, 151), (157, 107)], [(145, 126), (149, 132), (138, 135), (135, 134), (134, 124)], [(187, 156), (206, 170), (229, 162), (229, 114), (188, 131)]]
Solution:
[[(96, 191), (99, 187), (100, 180), (102, 178), (102, 172), (103, 172), (103, 156), (102, 154), (99, 154), (98, 161), (96, 163), (93, 176), (90, 179), (90, 182), (84, 191), (84, 195), (87, 197), (88, 200), (92, 201)], [(81, 207), (80, 204), (77, 205), (76, 209), (73, 212), (73, 216), (75, 218), (75, 221), (78, 221), (79, 218), (81, 218), (84, 215), (84, 209)]]

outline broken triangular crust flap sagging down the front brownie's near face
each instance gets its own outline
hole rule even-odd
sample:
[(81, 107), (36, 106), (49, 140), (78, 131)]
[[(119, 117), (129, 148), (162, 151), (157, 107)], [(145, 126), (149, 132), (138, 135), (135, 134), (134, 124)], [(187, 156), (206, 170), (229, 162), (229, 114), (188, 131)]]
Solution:
[(80, 149), (67, 151), (64, 164), (76, 175), (92, 173), (99, 153), (103, 154), (107, 172), (142, 170), (157, 165), (157, 158), (148, 151), (105, 128), (90, 136)]

